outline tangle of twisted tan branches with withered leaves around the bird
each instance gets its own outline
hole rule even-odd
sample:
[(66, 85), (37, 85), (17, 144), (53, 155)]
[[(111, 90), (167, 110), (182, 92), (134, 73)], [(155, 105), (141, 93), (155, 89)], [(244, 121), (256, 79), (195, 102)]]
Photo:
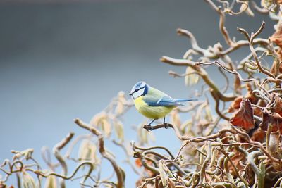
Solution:
[[(137, 187), (282, 187), (282, 3), (204, 1), (219, 14), (219, 30), (227, 48), (216, 43), (204, 49), (190, 31), (178, 29), (178, 35), (190, 39), (191, 48), (182, 58), (161, 58), (164, 63), (183, 66), (183, 74), (170, 71), (169, 75), (183, 77), (186, 86), (204, 82), (195, 95), (206, 100), (176, 108), (171, 113), (171, 124), (152, 127), (152, 132), (169, 127), (166, 131), (182, 144), (178, 152), (169, 151), (166, 142), (150, 145), (149, 140), (154, 137), (144, 123), (135, 126), (138, 139), (129, 144), (123, 131), (123, 116), (133, 101), (119, 92), (89, 124), (75, 119), (88, 134), (76, 138), (73, 133), (68, 134), (54, 146), (57, 162), (51, 161), (49, 149), (42, 149), (47, 169), (35, 161), (33, 149), (12, 151), (13, 158), (1, 164), (0, 187), (6, 187), (15, 175), (18, 187), (66, 187), (66, 181), (80, 180), (81, 187), (121, 188), (132, 172), (139, 177)], [(266, 24), (262, 22), (252, 33), (238, 27), (242, 37), (233, 39), (225, 27), (226, 14), (241, 13), (269, 15), (276, 21), (276, 31), (269, 38), (259, 38)], [(250, 54), (231, 59), (230, 54), (244, 46)], [(271, 57), (267, 64), (265, 56)], [(223, 89), (209, 75), (210, 65), (218, 66), (225, 77)], [(181, 113), (190, 113), (185, 117), (191, 118), (183, 120)], [(123, 149), (124, 161), (132, 172), (121, 168), (115, 153), (107, 149), (109, 142)], [(75, 145), (80, 145), (77, 157), (73, 155)], [(66, 147), (63, 153), (61, 150)], [(102, 177), (101, 171), (109, 171), (102, 160), (109, 161), (114, 175)], [(78, 163), (77, 168), (68, 169), (70, 161)]]

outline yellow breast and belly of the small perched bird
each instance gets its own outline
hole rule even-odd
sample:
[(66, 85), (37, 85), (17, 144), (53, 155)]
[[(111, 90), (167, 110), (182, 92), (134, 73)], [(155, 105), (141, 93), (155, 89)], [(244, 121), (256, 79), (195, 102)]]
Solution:
[(164, 118), (175, 106), (149, 106), (143, 101), (143, 96), (138, 97), (134, 100), (135, 108), (142, 115), (147, 118), (159, 119)]

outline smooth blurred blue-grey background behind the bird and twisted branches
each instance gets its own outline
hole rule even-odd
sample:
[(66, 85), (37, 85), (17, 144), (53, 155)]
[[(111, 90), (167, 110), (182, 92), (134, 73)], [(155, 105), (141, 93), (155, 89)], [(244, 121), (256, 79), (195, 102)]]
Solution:
[[(266, 28), (261, 36), (274, 31), (266, 16), (226, 19), (228, 31), (238, 39), (244, 37), (237, 26), (251, 32), (262, 20)], [(176, 35), (178, 27), (194, 33), (204, 48), (225, 45), (218, 20), (202, 0), (0, 1), (0, 161), (11, 158), (11, 149), (26, 148), (34, 148), (40, 161), (42, 146), (52, 148), (70, 131), (86, 133), (73, 118), (89, 122), (119, 91), (128, 93), (139, 80), (175, 98), (190, 96), (200, 84), (185, 87), (182, 79), (168, 75), (168, 70), (183, 73), (185, 68), (159, 58), (180, 58), (190, 48), (188, 39)], [(247, 53), (245, 48), (232, 57), (240, 60)], [(222, 82), (216, 68), (207, 70)], [(130, 125), (142, 120), (135, 110), (126, 116), (127, 143), (136, 139)], [(169, 130), (154, 134), (156, 144), (173, 152), (179, 148)], [(137, 176), (123, 166), (127, 187), (135, 187)]]

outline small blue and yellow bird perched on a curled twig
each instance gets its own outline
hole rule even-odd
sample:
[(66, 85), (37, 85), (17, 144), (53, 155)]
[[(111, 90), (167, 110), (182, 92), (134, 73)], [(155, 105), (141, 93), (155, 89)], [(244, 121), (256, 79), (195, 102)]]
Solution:
[(149, 130), (152, 130), (152, 123), (159, 118), (164, 118), (164, 125), (167, 127), (168, 125), (165, 122), (166, 115), (177, 106), (185, 106), (181, 102), (197, 101), (197, 99), (173, 99), (168, 94), (149, 86), (149, 84), (143, 81), (137, 82), (129, 95), (133, 97), (137, 111), (145, 117), (152, 119), (147, 125)]

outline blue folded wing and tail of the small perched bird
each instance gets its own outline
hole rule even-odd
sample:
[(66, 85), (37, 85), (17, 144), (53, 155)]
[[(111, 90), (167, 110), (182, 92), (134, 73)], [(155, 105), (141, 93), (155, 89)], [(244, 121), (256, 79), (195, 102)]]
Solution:
[(159, 100), (144, 98), (144, 101), (149, 106), (185, 106), (180, 102), (197, 101), (197, 99), (173, 99), (170, 96), (162, 96)]

